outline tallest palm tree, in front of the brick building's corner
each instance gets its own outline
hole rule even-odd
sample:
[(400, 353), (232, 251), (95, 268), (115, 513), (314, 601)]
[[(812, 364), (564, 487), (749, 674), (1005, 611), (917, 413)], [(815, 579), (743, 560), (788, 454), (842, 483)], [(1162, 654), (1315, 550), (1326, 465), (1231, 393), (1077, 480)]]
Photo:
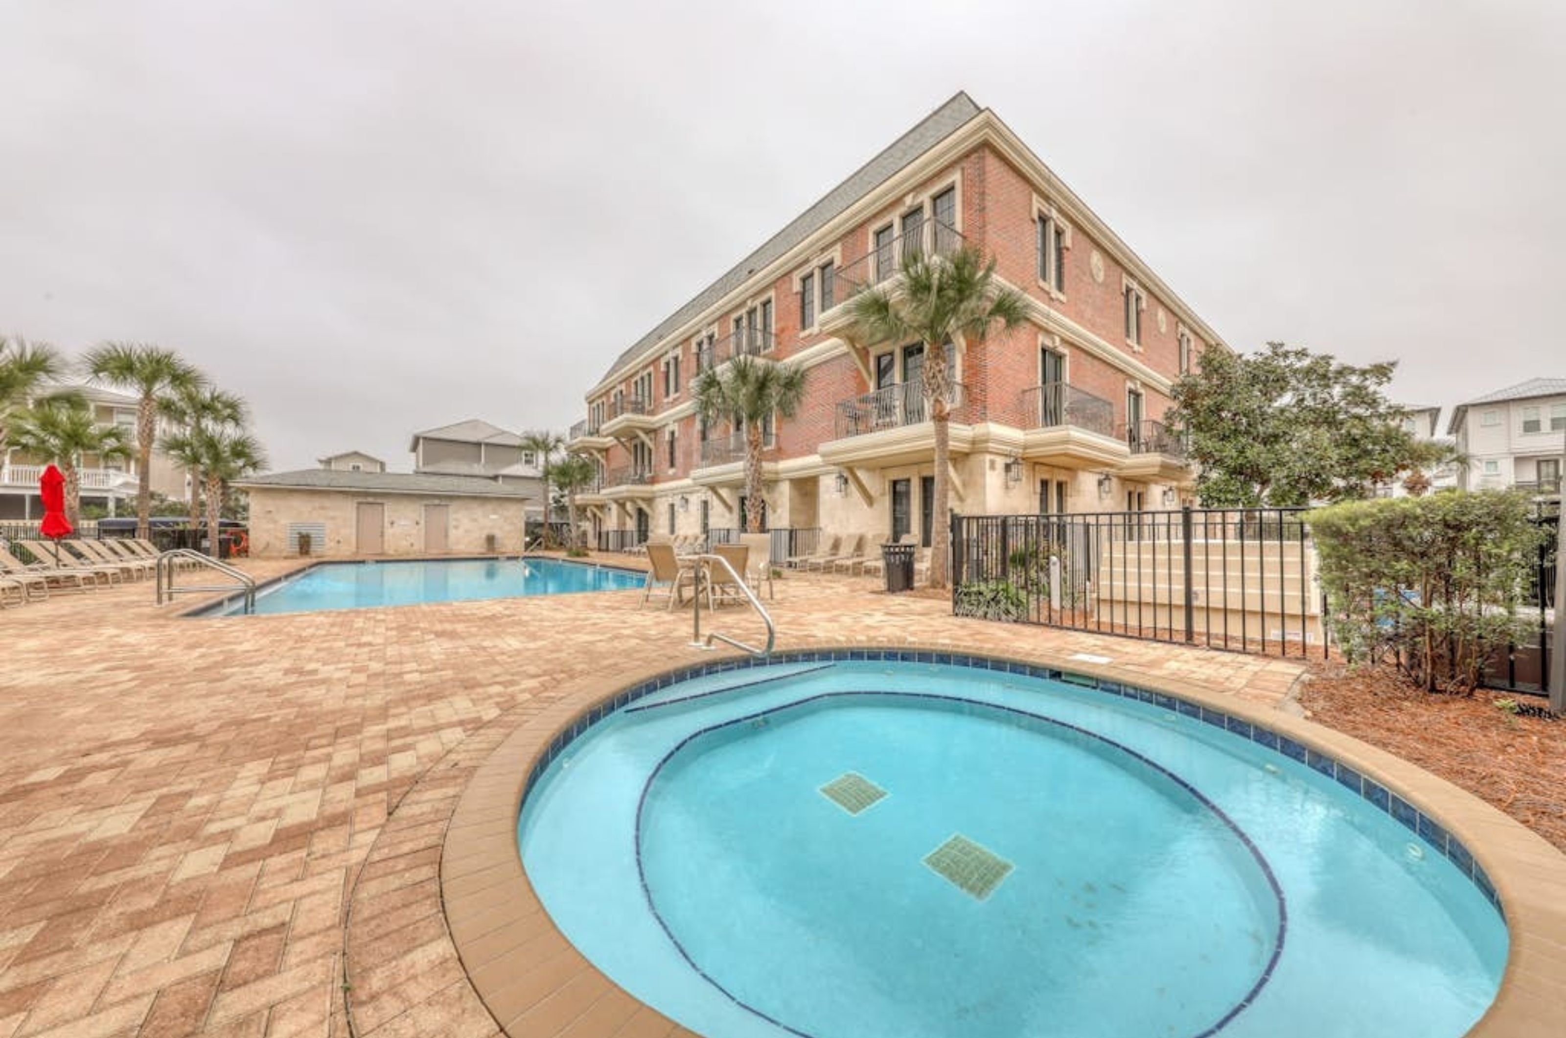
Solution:
[(869, 287), (849, 299), (853, 332), (863, 342), (922, 342), (924, 400), (935, 433), (935, 524), (930, 546), (930, 586), (944, 588), (951, 561), (951, 414), (952, 375), (947, 347), (962, 351), (983, 342), (996, 325), (1016, 328), (1027, 320), (1027, 298), (994, 284), (994, 260), (974, 248), (951, 256), (911, 252), (902, 278)]

